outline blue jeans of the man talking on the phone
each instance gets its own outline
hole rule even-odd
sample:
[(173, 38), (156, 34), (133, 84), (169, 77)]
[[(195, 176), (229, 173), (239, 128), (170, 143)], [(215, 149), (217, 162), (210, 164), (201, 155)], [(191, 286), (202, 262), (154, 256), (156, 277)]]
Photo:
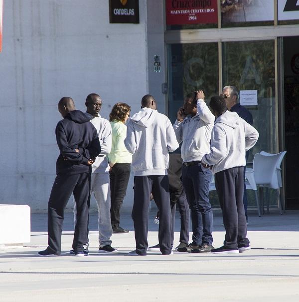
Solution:
[(209, 200), (209, 186), (212, 171), (201, 164), (185, 166), (182, 169), (182, 182), (191, 210), (193, 244), (212, 245), (213, 212)]

